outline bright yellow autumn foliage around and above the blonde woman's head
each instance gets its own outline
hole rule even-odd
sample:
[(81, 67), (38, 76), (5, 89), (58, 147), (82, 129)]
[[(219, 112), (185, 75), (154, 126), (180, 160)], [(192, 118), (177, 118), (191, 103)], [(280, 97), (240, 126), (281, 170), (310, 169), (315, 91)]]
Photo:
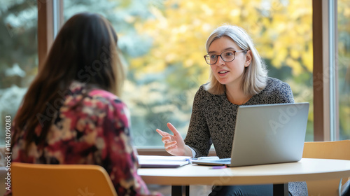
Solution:
[(246, 29), (269, 65), (290, 66), (295, 76), (312, 71), (311, 1), (169, 0), (162, 10), (153, 6), (151, 11), (154, 18), (136, 28), (153, 38), (153, 48), (132, 60), (132, 69), (154, 73), (179, 63), (190, 74), (194, 66), (206, 70), (200, 76), (205, 80), (207, 37), (216, 27), (230, 24)]

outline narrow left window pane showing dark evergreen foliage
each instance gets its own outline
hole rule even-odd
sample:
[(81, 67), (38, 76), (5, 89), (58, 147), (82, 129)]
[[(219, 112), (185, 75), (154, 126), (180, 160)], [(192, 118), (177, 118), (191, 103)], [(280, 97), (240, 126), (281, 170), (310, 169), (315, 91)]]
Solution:
[(1, 1), (0, 145), (5, 144), (6, 116), (11, 123), (27, 87), (38, 71), (36, 1)]

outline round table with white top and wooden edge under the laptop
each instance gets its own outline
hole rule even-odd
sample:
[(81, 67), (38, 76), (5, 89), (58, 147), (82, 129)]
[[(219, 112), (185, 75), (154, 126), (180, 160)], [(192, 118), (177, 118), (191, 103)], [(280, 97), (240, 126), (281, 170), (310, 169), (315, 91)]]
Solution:
[(212, 169), (209, 166), (141, 168), (138, 174), (148, 184), (171, 185), (172, 195), (182, 193), (190, 185), (247, 185), (274, 184), (274, 195), (288, 195), (288, 182), (340, 179), (350, 176), (350, 160), (307, 159), (271, 165)]

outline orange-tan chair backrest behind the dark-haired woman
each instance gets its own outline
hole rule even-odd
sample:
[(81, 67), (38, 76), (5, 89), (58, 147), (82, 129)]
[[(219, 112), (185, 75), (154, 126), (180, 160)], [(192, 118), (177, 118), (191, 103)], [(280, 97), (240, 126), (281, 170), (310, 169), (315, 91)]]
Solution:
[(106, 170), (99, 165), (41, 165), (12, 162), (13, 196), (116, 196)]

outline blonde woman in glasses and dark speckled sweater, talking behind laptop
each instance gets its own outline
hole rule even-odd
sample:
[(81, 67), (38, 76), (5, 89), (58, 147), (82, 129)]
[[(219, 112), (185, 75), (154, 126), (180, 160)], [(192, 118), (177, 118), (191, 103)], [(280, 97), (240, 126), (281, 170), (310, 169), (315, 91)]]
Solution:
[[(206, 48), (204, 59), (211, 67), (211, 78), (195, 94), (186, 139), (170, 123), (167, 126), (174, 135), (157, 132), (172, 155), (207, 156), (213, 144), (219, 158), (230, 158), (238, 106), (293, 103), (293, 92), (287, 83), (267, 76), (244, 29), (218, 27), (207, 39)], [(290, 195), (307, 195), (304, 182), (290, 183), (289, 190)], [(272, 195), (272, 185), (214, 186), (211, 195)]]

